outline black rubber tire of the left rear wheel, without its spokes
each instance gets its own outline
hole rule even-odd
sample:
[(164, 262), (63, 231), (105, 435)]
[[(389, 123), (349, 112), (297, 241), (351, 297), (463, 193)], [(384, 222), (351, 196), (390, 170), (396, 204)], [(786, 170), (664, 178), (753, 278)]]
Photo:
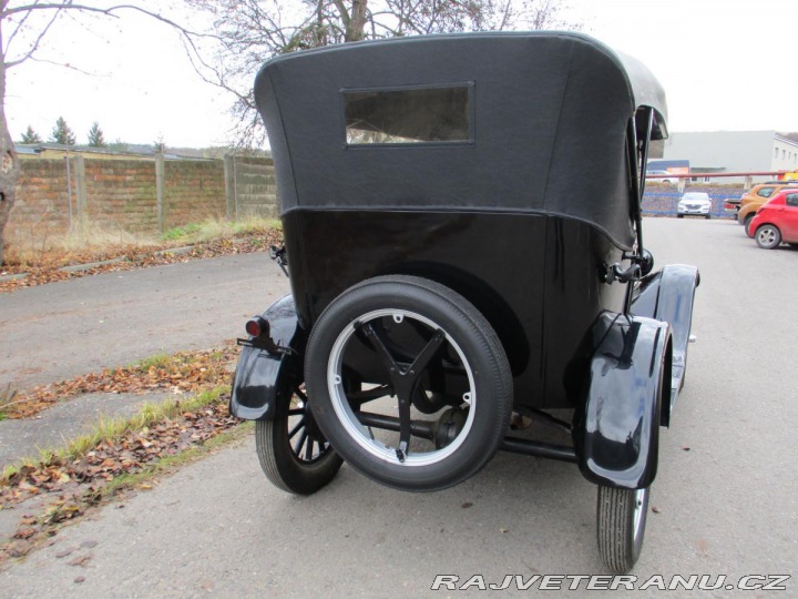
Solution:
[(331, 447), (314, 463), (297, 458), (288, 439), (288, 388), (284, 384), (278, 390), (274, 419), (255, 422), (255, 447), (260, 468), (274, 486), (295, 495), (313, 495), (335, 478), (344, 460)]

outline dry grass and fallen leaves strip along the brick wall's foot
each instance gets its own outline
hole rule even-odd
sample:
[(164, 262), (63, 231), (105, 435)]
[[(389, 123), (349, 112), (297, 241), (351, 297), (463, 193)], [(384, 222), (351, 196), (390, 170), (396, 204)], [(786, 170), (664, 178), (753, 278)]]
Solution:
[[(96, 227), (61, 237), (31, 233), (8, 244), (0, 275), (24, 276), (0, 281), (0, 293), (110, 271), (262, 252), (282, 240), (279, 221), (266, 219), (209, 219), (171, 229), (158, 237)], [(89, 266), (63, 270), (79, 265)]]

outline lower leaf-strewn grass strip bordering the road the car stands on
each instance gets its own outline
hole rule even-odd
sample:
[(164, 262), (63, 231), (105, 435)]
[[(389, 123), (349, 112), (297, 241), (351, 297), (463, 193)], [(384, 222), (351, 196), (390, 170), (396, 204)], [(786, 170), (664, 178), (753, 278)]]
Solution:
[(146, 404), (133, 417), (101, 419), (66, 447), (7, 467), (0, 509), (22, 516), (13, 537), (0, 539), (0, 564), (25, 556), (92, 507), (149, 490), (158, 476), (247, 434), (252, 426), (228, 415), (228, 397), (225, 385)]

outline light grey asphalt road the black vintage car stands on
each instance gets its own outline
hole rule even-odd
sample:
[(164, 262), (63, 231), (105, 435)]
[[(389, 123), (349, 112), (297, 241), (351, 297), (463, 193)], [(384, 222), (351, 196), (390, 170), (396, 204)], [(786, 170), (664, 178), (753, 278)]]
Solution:
[[(656, 512), (633, 573), (666, 583), (674, 575), (726, 576), (713, 597), (767, 596), (723, 587), (746, 575), (789, 575), (788, 590), (775, 595), (795, 597), (798, 252), (759, 250), (733, 222), (646, 220), (645, 232), (658, 265), (696, 264), (702, 286), (698, 343), (661, 436)], [(247, 313), (218, 300), (201, 322), (224, 312)], [(73, 353), (70, 336), (62, 338)], [(125, 344), (136, 338), (132, 329)], [(478, 595), (477, 587), (429, 589), (436, 575), (499, 583), (505, 575), (603, 573), (594, 504), (594, 487), (573, 465), (508, 454), (441, 493), (392, 491), (345, 466), (320, 493), (296, 498), (265, 480), (248, 438), (65, 528), (52, 547), (0, 573), (0, 596)], [(83, 566), (69, 565), (81, 557)], [(574, 595), (592, 592), (582, 583)]]

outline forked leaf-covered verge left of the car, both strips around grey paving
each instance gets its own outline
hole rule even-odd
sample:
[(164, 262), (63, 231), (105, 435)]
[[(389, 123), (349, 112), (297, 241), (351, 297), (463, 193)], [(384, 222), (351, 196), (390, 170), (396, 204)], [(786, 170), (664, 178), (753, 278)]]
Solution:
[(157, 355), (99, 375), (16, 395), (8, 417), (35, 414), (80, 393), (146, 393), (171, 388), (176, 398), (145, 404), (132, 417), (101, 418), (65, 447), (43, 448), (0, 475), (0, 510), (19, 510), (11, 539), (0, 539), (0, 562), (27, 555), (93, 506), (124, 500), (171, 471), (239, 438), (249, 426), (229, 416), (232, 344), (209, 352)]

